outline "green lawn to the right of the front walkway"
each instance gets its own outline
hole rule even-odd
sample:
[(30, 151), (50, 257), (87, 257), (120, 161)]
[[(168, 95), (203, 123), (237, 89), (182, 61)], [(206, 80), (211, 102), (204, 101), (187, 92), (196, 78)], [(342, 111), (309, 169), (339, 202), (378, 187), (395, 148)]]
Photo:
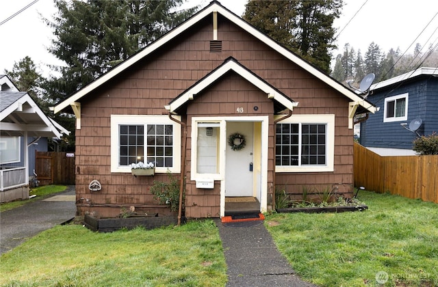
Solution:
[(376, 286), (384, 271), (385, 286), (438, 286), (438, 204), (368, 191), (359, 200), (369, 210), (275, 214), (266, 226), (298, 275), (314, 284)]

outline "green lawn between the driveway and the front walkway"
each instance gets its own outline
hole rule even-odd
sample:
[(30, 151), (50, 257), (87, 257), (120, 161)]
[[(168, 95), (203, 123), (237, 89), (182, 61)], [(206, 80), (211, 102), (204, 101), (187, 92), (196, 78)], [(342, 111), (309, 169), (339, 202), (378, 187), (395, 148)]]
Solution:
[(57, 226), (1, 256), (1, 286), (224, 286), (213, 221), (96, 233)]

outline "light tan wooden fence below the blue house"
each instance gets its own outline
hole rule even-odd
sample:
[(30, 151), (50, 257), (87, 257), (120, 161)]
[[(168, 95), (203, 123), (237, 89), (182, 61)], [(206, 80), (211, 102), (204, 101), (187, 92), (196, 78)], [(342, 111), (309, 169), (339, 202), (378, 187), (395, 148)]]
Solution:
[(355, 186), (438, 203), (438, 155), (379, 156), (355, 143)]

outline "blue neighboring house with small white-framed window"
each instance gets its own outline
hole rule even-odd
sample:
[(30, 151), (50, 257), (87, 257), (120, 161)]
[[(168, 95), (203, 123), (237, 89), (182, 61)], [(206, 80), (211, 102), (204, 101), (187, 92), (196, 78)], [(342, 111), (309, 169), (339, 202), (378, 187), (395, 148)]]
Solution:
[[(376, 83), (368, 100), (380, 110), (361, 122), (359, 142), (381, 156), (413, 155), (418, 135), (438, 132), (438, 68), (418, 68)], [(417, 130), (409, 131), (410, 126)]]

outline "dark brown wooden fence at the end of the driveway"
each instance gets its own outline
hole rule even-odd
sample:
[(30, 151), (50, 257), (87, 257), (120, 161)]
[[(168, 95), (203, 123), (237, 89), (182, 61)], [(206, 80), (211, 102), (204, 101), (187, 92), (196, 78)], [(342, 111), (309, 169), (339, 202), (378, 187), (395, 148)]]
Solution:
[(75, 184), (75, 156), (72, 152), (36, 152), (35, 172), (40, 185)]

